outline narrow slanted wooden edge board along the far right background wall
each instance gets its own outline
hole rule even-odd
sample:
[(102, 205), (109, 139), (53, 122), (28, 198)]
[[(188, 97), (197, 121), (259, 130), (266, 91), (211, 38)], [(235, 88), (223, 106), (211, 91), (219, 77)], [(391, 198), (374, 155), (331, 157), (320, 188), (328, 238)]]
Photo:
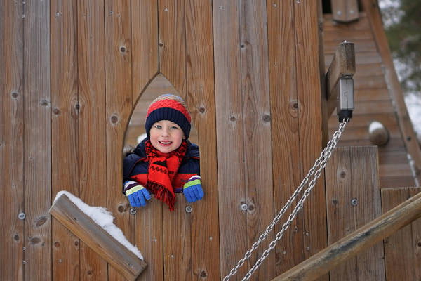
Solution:
[(382, 18), (380, 15), (377, 1), (363, 0), (361, 4), (370, 20), (370, 27), (374, 34), (375, 42), (377, 44), (378, 52), (382, 57), (383, 65), (385, 66), (385, 80), (390, 89), (389, 93), (396, 107), (397, 119), (401, 127), (403, 141), (405, 142), (408, 153), (414, 161), (415, 176), (418, 181), (421, 181), (421, 150), (417, 143), (413, 124), (410, 121), (408, 110), (403, 100), (403, 91), (399, 84), (399, 79), (394, 70), (392, 53), (387, 43), (385, 30), (382, 25)]

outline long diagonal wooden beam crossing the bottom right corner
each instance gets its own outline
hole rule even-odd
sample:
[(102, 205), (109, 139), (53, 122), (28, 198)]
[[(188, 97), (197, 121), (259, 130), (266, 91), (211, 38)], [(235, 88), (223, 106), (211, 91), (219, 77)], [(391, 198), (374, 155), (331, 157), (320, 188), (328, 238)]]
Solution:
[(421, 217), (421, 192), (272, 281), (311, 281)]

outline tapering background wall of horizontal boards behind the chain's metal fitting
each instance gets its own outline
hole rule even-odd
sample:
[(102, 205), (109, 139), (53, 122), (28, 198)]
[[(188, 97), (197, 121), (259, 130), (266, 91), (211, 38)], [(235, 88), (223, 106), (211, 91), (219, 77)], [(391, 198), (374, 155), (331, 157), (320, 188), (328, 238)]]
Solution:
[[(356, 53), (355, 110), (352, 122), (347, 126), (338, 145), (372, 145), (368, 131), (369, 124), (373, 121), (385, 124), (391, 136), (387, 145), (379, 147), (380, 187), (414, 185), (408, 159), (399, 162), (396, 169), (391, 170), (387, 167), (395, 163), (390, 156), (394, 152), (406, 153), (405, 136), (401, 133), (401, 124), (396, 118), (394, 98), (390, 96), (392, 93), (389, 94), (387, 89), (387, 78), (382, 69), (384, 63), (376, 47), (375, 33), (370, 28), (368, 13), (359, 13), (358, 21), (347, 24), (333, 22), (332, 15), (328, 14), (324, 15), (324, 19), (325, 61), (330, 63), (333, 59), (335, 44), (349, 38), (353, 38)], [(329, 133), (332, 136), (333, 131), (338, 127), (338, 117), (335, 113), (330, 116), (328, 124)]]

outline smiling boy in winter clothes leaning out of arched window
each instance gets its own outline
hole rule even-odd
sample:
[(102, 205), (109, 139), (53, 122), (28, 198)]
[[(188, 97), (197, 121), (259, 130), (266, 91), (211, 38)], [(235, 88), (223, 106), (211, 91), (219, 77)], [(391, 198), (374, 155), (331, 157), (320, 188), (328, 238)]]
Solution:
[(201, 200), (199, 147), (188, 141), (190, 123), (179, 96), (161, 95), (149, 105), (147, 138), (123, 162), (123, 193), (132, 207), (145, 206), (150, 193), (171, 211), (175, 193), (183, 192), (190, 203)]

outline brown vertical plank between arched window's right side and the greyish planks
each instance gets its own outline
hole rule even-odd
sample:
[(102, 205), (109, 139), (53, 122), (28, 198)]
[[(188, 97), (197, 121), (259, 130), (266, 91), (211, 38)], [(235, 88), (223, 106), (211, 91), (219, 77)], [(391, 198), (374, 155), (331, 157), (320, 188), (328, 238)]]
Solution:
[(220, 280), (212, 1), (186, 2), (187, 104), (199, 135), (205, 197), (193, 204), (194, 280)]

